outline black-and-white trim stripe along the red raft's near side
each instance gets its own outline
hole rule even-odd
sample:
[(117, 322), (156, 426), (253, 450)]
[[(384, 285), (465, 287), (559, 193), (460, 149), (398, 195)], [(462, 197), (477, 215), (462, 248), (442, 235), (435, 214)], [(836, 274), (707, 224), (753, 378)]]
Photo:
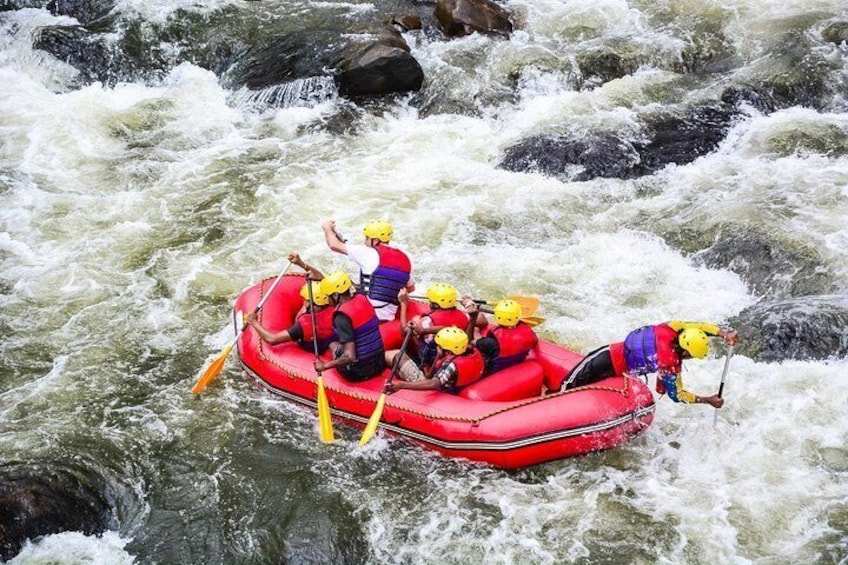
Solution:
[[(256, 382), (258, 385), (263, 387), (264, 389), (296, 402), (298, 404), (302, 404), (305, 406), (309, 406), (313, 409), (318, 409), (318, 403), (315, 400), (310, 400), (308, 398), (304, 398), (297, 394), (293, 394), (286, 390), (277, 388), (267, 381), (265, 381), (262, 377), (256, 374), (252, 369), (250, 369), (241, 359), (241, 356), (238, 356), (239, 364), (242, 366), (242, 369), (248, 374), (248, 376)], [(401, 426), (396, 426), (393, 424), (387, 424), (385, 422), (380, 422), (379, 428), (383, 428), (384, 430), (389, 430), (394, 432), (395, 434), (407, 438), (414, 439), (416, 441), (420, 441), (422, 443), (427, 443), (430, 445), (438, 446), (442, 449), (446, 450), (477, 450), (477, 451), (510, 451), (513, 449), (518, 449), (522, 447), (529, 447), (537, 444), (544, 444), (551, 441), (556, 441), (560, 439), (577, 437), (582, 435), (589, 435), (598, 432), (604, 432), (607, 430), (611, 430), (622, 426), (628, 422), (639, 420), (648, 414), (654, 412), (656, 409), (656, 404), (651, 403), (650, 406), (644, 406), (639, 408), (629, 414), (625, 414), (623, 416), (619, 416), (618, 418), (614, 418), (612, 420), (606, 420), (604, 422), (599, 422), (596, 424), (591, 424), (588, 426), (581, 426), (579, 428), (569, 428), (565, 430), (557, 430), (554, 432), (547, 432), (534, 436), (527, 436), (524, 438), (503, 441), (503, 442), (473, 442), (473, 441), (445, 441), (437, 439), (433, 436), (422, 434), (409, 428), (404, 428)], [(337, 408), (330, 408), (330, 412), (341, 418), (346, 420), (352, 420), (355, 422), (360, 422), (362, 424), (368, 423), (367, 416), (360, 416), (359, 414), (354, 414), (351, 412), (339, 410)]]

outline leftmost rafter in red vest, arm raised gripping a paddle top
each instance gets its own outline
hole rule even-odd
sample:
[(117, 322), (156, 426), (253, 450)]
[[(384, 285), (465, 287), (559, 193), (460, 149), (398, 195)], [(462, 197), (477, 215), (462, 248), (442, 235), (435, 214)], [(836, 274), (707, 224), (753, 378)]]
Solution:
[[(303, 298), (303, 307), (295, 316), (294, 323), (288, 328), (280, 332), (271, 332), (262, 327), (256, 317), (256, 312), (250, 312), (244, 318), (244, 321), (256, 330), (259, 337), (271, 345), (287, 343), (293, 341), (301, 348), (307, 351), (313, 351), (313, 332), (315, 341), (318, 343), (318, 353), (323, 353), (327, 350), (330, 343), (336, 339), (336, 333), (333, 330), (333, 309), (328, 308), (330, 299), (321, 290), (320, 280), (324, 275), (310, 265), (307, 265), (300, 255), (291, 253), (288, 256), (289, 261), (293, 265), (297, 265), (306, 271), (306, 283), (300, 289), (300, 296)], [(315, 311), (315, 328), (312, 327), (312, 313), (309, 311), (309, 288), (306, 285), (312, 285), (312, 300)]]

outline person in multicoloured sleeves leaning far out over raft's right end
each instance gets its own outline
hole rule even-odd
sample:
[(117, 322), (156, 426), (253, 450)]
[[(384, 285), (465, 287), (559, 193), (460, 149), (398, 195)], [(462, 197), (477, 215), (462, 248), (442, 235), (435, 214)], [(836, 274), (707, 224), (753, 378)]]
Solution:
[(703, 359), (710, 350), (710, 336), (734, 345), (738, 334), (706, 322), (671, 321), (630, 332), (622, 342), (605, 345), (583, 358), (566, 375), (560, 390), (591, 384), (613, 376), (647, 376), (657, 373), (656, 389), (674, 402), (709, 404), (721, 408), (718, 395), (698, 396), (686, 390), (680, 373), (683, 360)]

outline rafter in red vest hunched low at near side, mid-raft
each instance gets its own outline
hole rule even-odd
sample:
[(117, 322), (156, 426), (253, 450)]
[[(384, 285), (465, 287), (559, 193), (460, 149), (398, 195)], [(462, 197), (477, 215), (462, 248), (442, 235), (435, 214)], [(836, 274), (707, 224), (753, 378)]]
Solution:
[[(386, 393), (400, 389), (457, 392), (483, 376), (485, 360), (480, 351), (469, 344), (465, 331), (453, 326), (442, 328), (433, 341), (436, 343), (433, 364), (419, 367), (403, 353), (398, 364), (398, 379), (386, 383)], [(393, 363), (395, 356), (400, 354), (400, 350), (386, 352), (386, 363)]]

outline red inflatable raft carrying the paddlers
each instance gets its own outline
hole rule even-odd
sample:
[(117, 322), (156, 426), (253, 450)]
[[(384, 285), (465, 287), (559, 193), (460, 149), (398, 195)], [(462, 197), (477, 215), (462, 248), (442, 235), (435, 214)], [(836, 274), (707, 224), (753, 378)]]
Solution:
[[(247, 289), (235, 310), (252, 311), (270, 289), (267, 279)], [(303, 305), (303, 275), (285, 275), (262, 307), (265, 328), (288, 328)], [(426, 306), (414, 304), (418, 311)], [(398, 322), (381, 325), (387, 348), (401, 343)], [(329, 358), (329, 353), (325, 353)], [(239, 360), (258, 385), (288, 400), (316, 408), (314, 355), (293, 343), (276, 346), (251, 328), (238, 341)], [(654, 400), (639, 380), (611, 378), (591, 386), (541, 396), (556, 389), (582, 357), (539, 341), (523, 363), (464, 388), (459, 394), (401, 390), (389, 395), (380, 428), (450, 457), (503, 468), (519, 468), (619, 446), (647, 429)], [(325, 371), (324, 387), (334, 416), (364, 427), (382, 392), (388, 370), (363, 383)]]

